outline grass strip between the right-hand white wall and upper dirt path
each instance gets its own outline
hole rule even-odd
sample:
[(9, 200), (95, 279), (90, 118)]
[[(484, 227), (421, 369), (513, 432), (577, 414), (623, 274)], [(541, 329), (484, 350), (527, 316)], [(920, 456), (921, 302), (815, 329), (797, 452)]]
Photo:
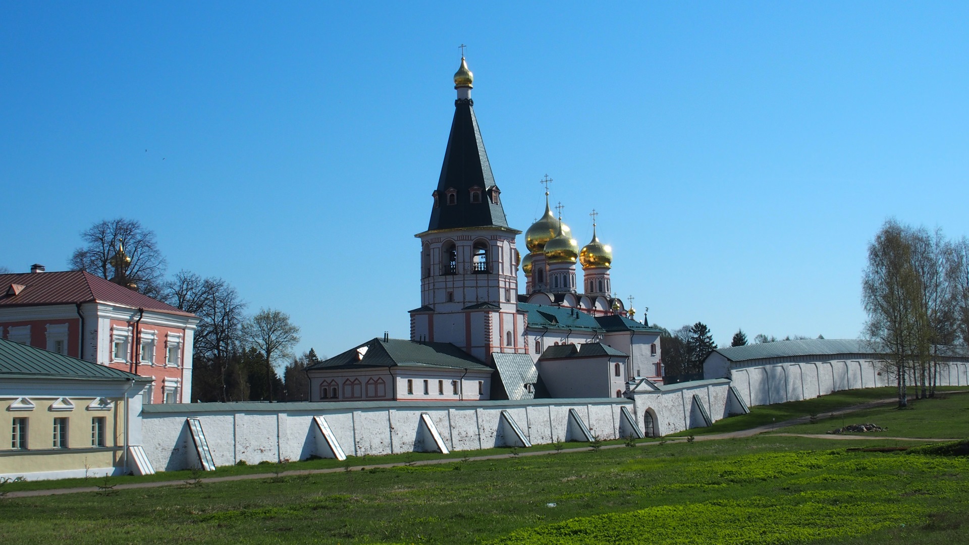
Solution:
[[(946, 392), (965, 389), (965, 387), (946, 387), (940, 388), (939, 391)], [(785, 420), (792, 420), (811, 414), (820, 416), (834, 409), (869, 401), (886, 400), (895, 396), (897, 396), (897, 390), (891, 387), (862, 388), (859, 390), (841, 390), (812, 400), (789, 401), (786, 403), (774, 403), (772, 405), (755, 405), (750, 407), (750, 413), (748, 414), (731, 416), (714, 422), (713, 426), (672, 433), (671, 436), (739, 432), (740, 430), (749, 430), (759, 426), (770, 426), (774, 423), (781, 423)]]

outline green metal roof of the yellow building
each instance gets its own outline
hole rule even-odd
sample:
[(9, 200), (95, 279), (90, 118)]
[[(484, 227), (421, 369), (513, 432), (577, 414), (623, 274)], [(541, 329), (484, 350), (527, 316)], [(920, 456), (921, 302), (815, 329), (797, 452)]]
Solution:
[(111, 369), (6, 338), (0, 338), (0, 378), (151, 381), (151, 377)]

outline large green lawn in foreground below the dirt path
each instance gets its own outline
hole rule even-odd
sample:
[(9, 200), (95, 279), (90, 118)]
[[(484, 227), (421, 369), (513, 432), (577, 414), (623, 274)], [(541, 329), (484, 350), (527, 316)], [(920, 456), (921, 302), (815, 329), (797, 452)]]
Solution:
[[(872, 444), (898, 443), (851, 446)], [(966, 542), (969, 461), (833, 447), (762, 435), (6, 498), (0, 542)]]

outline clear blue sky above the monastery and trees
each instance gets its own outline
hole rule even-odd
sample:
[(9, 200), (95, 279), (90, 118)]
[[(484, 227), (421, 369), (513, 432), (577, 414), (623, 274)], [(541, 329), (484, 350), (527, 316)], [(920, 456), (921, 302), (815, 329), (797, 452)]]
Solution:
[(650, 323), (858, 337), (888, 216), (969, 233), (964, 2), (278, 4), (0, 1), (0, 266), (131, 217), (300, 350), (406, 338), (462, 43), (510, 224), (554, 178)]

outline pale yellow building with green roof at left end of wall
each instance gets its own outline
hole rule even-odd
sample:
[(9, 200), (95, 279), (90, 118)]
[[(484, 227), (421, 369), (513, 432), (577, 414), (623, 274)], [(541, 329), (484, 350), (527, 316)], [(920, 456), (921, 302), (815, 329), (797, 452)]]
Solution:
[(0, 478), (141, 472), (129, 447), (150, 380), (0, 338)]

